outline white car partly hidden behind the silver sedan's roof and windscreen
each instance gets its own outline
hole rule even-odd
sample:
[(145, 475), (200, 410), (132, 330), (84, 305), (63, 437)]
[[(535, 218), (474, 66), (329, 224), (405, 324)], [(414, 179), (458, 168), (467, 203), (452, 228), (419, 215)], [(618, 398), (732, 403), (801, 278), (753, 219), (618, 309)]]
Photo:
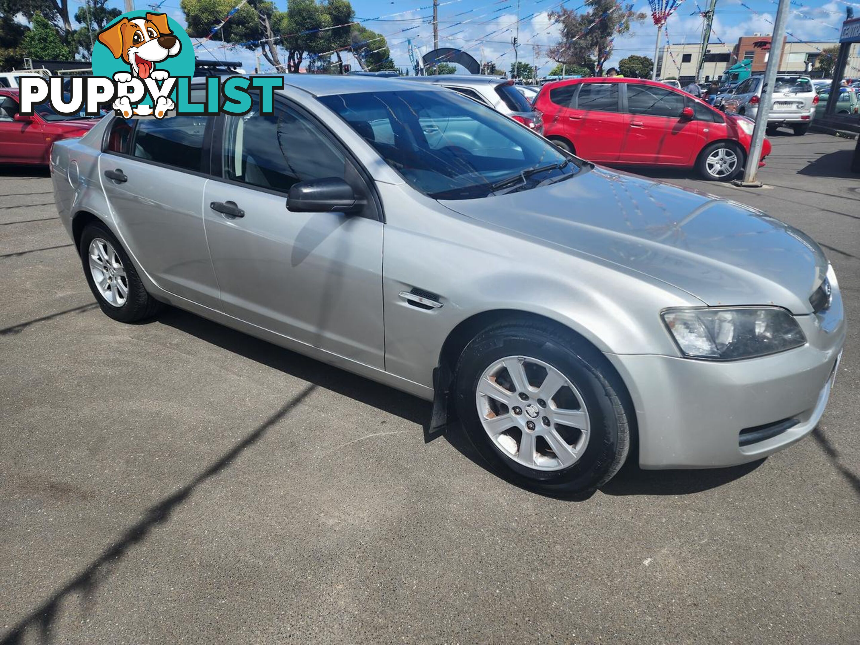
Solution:
[(538, 134), (544, 132), (541, 114), (531, 107), (531, 103), (520, 94), (512, 79), (500, 77), (458, 74), (440, 74), (434, 77), (402, 77), (408, 81), (422, 81), (453, 89), (473, 101), (488, 105), (494, 110), (511, 117), (513, 120), (531, 128)]

